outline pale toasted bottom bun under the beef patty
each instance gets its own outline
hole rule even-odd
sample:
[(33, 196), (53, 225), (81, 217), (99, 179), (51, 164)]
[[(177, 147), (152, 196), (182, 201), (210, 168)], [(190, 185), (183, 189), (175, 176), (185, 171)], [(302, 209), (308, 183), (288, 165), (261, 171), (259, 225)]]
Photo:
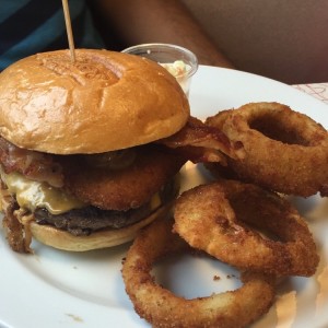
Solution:
[(117, 230), (112, 229), (95, 232), (89, 236), (74, 236), (55, 226), (37, 224), (34, 221), (30, 223), (30, 229), (34, 238), (47, 246), (69, 251), (86, 251), (118, 246), (134, 239), (143, 226), (166, 215), (171, 208), (172, 204), (163, 206), (148, 218), (134, 224)]

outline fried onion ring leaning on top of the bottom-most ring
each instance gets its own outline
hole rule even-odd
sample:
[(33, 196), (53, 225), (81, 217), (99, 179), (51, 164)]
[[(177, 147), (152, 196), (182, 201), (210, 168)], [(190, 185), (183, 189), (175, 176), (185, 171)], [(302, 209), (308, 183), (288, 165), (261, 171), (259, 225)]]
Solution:
[(286, 199), (258, 186), (222, 180), (195, 187), (178, 198), (174, 218), (189, 245), (237, 268), (278, 276), (316, 271), (319, 257), (305, 221)]

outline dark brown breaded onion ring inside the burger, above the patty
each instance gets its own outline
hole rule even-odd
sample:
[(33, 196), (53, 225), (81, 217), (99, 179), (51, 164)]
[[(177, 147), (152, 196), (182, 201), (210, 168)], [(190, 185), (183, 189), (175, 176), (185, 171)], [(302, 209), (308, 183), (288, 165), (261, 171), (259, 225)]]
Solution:
[(94, 167), (79, 156), (62, 157), (65, 189), (104, 210), (140, 207), (178, 173), (185, 160), (159, 145), (136, 152), (134, 162), (122, 169)]

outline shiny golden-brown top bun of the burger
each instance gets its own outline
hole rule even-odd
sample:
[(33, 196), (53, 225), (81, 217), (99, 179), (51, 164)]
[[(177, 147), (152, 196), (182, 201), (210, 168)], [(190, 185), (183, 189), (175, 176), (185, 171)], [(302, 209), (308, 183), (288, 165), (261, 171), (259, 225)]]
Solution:
[(24, 58), (0, 74), (0, 134), (54, 154), (102, 153), (168, 137), (189, 117), (185, 93), (160, 65), (107, 50)]

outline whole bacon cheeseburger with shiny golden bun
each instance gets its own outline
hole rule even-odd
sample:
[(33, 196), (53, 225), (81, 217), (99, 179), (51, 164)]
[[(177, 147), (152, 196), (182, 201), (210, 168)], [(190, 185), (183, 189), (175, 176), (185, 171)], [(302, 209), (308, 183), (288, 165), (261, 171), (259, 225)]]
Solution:
[(163, 215), (186, 160), (157, 142), (189, 118), (160, 65), (93, 49), (43, 52), (0, 74), (3, 225), (16, 251), (32, 238), (83, 251), (131, 241)]

